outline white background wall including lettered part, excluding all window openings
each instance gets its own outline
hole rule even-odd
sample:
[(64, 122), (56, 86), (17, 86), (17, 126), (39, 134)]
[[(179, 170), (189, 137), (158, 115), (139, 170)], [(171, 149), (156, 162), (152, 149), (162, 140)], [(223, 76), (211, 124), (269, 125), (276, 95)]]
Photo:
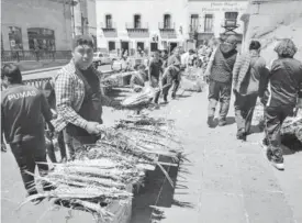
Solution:
[[(98, 46), (101, 48), (108, 47), (109, 41), (118, 43), (121, 40), (135, 42), (145, 42), (149, 44), (154, 35), (159, 36), (159, 48), (164, 48), (163, 41), (177, 42), (179, 45), (186, 46), (186, 41), (189, 40), (190, 15), (197, 13), (203, 18), (205, 13), (214, 13), (214, 32), (219, 36), (224, 29), (221, 27), (224, 21), (225, 11), (238, 11), (238, 22), (241, 14), (246, 10), (248, 0), (237, 1), (190, 1), (190, 0), (97, 0), (97, 36)], [(118, 32), (103, 33), (102, 26), (105, 25), (105, 14), (111, 14), (113, 24)], [(148, 23), (148, 36), (139, 35), (130, 37), (125, 29), (125, 23), (133, 22), (135, 13), (142, 14), (143, 25)], [(175, 37), (160, 35), (158, 23), (164, 22), (164, 14), (171, 15), (171, 23), (175, 23)], [(200, 24), (203, 24), (201, 19)], [(237, 32), (243, 32), (243, 25)]]

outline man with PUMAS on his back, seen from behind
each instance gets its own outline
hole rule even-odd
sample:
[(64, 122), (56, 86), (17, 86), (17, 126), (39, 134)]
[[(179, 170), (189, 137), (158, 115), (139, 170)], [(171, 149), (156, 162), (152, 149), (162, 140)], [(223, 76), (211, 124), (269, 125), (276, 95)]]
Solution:
[[(22, 76), (18, 66), (7, 64), (1, 70), (1, 79), (8, 87), (1, 96), (1, 143), (3, 134), (10, 145), (21, 171), (22, 180), (29, 194), (37, 193), (34, 176), (37, 165), (41, 175), (46, 175), (44, 120), (48, 127), (52, 112), (44, 94), (35, 87), (22, 85)], [(3, 145), (2, 145), (3, 146)], [(52, 189), (44, 183), (44, 190)]]

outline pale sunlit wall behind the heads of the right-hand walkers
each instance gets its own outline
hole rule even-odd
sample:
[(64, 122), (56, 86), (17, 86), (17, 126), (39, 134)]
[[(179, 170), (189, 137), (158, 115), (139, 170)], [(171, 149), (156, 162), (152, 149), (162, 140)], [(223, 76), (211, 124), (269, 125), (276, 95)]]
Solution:
[(291, 38), (299, 52), (295, 55), (302, 60), (302, 1), (267, 1), (261, 4), (249, 4), (246, 15), (246, 35), (244, 47), (248, 48), (250, 40), (258, 40), (262, 45), (262, 56), (268, 63), (277, 58), (275, 45), (280, 38)]

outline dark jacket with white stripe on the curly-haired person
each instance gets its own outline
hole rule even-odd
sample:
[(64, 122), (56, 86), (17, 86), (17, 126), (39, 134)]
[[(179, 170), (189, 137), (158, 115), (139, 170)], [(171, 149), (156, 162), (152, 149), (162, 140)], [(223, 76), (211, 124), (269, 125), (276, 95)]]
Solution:
[(293, 58), (279, 58), (272, 63), (266, 85), (268, 107), (295, 107), (302, 99), (302, 64)]

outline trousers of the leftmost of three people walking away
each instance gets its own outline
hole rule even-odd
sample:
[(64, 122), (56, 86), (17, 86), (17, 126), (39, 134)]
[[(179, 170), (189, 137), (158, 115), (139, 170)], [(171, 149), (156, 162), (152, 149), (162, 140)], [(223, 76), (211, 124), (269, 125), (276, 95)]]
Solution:
[(220, 119), (225, 120), (230, 109), (232, 83), (210, 80), (208, 116), (214, 116), (217, 102), (221, 102)]

